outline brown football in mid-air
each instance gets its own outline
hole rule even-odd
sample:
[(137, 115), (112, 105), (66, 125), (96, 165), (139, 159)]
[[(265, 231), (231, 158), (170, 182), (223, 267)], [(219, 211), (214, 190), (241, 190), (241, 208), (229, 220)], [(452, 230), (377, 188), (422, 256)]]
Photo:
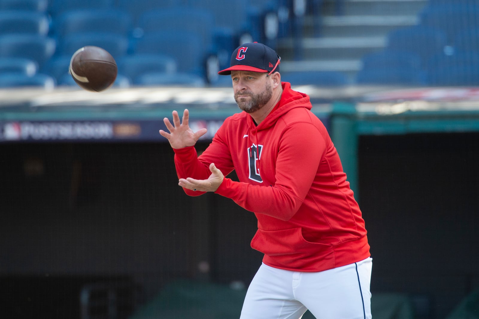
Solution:
[(113, 85), (118, 67), (108, 51), (89, 45), (73, 54), (68, 71), (81, 88), (100, 92)]

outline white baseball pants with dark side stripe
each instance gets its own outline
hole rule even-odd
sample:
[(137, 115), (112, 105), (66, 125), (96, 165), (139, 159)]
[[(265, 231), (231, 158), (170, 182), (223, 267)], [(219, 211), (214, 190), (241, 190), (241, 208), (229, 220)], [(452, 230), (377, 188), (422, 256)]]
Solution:
[(321, 272), (262, 264), (246, 293), (240, 319), (370, 319), (372, 259)]

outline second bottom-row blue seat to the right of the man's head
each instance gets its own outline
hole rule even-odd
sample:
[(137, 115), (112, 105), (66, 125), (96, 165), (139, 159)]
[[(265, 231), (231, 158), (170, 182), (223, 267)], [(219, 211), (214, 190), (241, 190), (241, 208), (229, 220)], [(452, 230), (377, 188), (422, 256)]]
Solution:
[(424, 71), (405, 68), (363, 69), (356, 74), (357, 84), (418, 86), (426, 83)]

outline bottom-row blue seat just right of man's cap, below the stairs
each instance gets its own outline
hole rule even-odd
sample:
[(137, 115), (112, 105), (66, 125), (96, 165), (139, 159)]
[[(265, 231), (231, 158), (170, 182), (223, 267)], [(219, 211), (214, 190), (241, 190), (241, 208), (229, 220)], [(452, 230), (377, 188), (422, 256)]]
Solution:
[(293, 71), (280, 72), (281, 81), (295, 85), (343, 86), (348, 84), (346, 75), (336, 71)]

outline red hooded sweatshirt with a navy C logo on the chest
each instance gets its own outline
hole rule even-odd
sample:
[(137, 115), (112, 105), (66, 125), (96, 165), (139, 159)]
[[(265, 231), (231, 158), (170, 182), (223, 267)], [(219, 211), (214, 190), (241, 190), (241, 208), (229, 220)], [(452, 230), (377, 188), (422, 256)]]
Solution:
[(175, 149), (178, 177), (207, 179), (211, 163), (225, 176), (236, 170), (239, 182), (225, 177), (216, 193), (255, 213), (251, 247), (264, 253), (264, 264), (316, 272), (363, 260), (370, 256), (365, 222), (336, 148), (308, 95), (282, 86), (258, 126), (243, 111), (224, 121), (200, 156), (193, 146)]

